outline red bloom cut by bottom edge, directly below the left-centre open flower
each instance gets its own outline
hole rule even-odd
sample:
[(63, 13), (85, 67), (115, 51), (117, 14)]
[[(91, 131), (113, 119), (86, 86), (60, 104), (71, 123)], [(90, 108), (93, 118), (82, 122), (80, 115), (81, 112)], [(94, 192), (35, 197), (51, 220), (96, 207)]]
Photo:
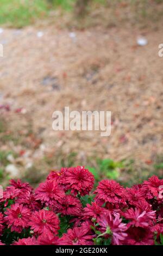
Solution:
[(58, 245), (59, 237), (52, 234), (51, 231), (46, 230), (37, 238), (39, 245)]

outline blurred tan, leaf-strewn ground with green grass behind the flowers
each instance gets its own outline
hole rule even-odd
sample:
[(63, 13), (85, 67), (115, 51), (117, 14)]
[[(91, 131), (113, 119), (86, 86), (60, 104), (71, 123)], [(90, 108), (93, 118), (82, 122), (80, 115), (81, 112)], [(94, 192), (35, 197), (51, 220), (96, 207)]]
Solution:
[[(84, 165), (123, 185), (163, 173), (162, 0), (0, 0), (0, 183)], [(111, 136), (52, 113), (111, 111)]]

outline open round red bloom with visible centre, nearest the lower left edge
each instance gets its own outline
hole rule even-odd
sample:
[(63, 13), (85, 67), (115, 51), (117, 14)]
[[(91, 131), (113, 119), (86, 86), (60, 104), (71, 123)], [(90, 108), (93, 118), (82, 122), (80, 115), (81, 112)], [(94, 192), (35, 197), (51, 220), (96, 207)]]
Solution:
[(7, 222), (11, 231), (21, 233), (23, 228), (29, 227), (30, 210), (23, 204), (12, 204), (10, 209), (4, 212), (4, 220)]

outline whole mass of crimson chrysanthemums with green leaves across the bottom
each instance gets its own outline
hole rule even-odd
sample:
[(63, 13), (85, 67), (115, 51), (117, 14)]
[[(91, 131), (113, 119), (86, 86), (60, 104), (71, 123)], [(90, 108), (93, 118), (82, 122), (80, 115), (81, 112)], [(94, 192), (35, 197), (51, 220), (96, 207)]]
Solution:
[(1, 245), (162, 243), (163, 179), (152, 176), (131, 188), (94, 183), (82, 166), (52, 171), (35, 190), (11, 180), (0, 200)]

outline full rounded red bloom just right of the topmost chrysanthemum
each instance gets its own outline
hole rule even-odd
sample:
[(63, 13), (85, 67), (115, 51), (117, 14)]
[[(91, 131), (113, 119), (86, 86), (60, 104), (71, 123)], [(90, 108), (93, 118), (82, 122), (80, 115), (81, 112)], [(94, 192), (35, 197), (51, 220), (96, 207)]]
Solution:
[(124, 188), (115, 180), (102, 180), (99, 182), (96, 191), (95, 200), (99, 204), (112, 203), (112, 204), (125, 204)]

